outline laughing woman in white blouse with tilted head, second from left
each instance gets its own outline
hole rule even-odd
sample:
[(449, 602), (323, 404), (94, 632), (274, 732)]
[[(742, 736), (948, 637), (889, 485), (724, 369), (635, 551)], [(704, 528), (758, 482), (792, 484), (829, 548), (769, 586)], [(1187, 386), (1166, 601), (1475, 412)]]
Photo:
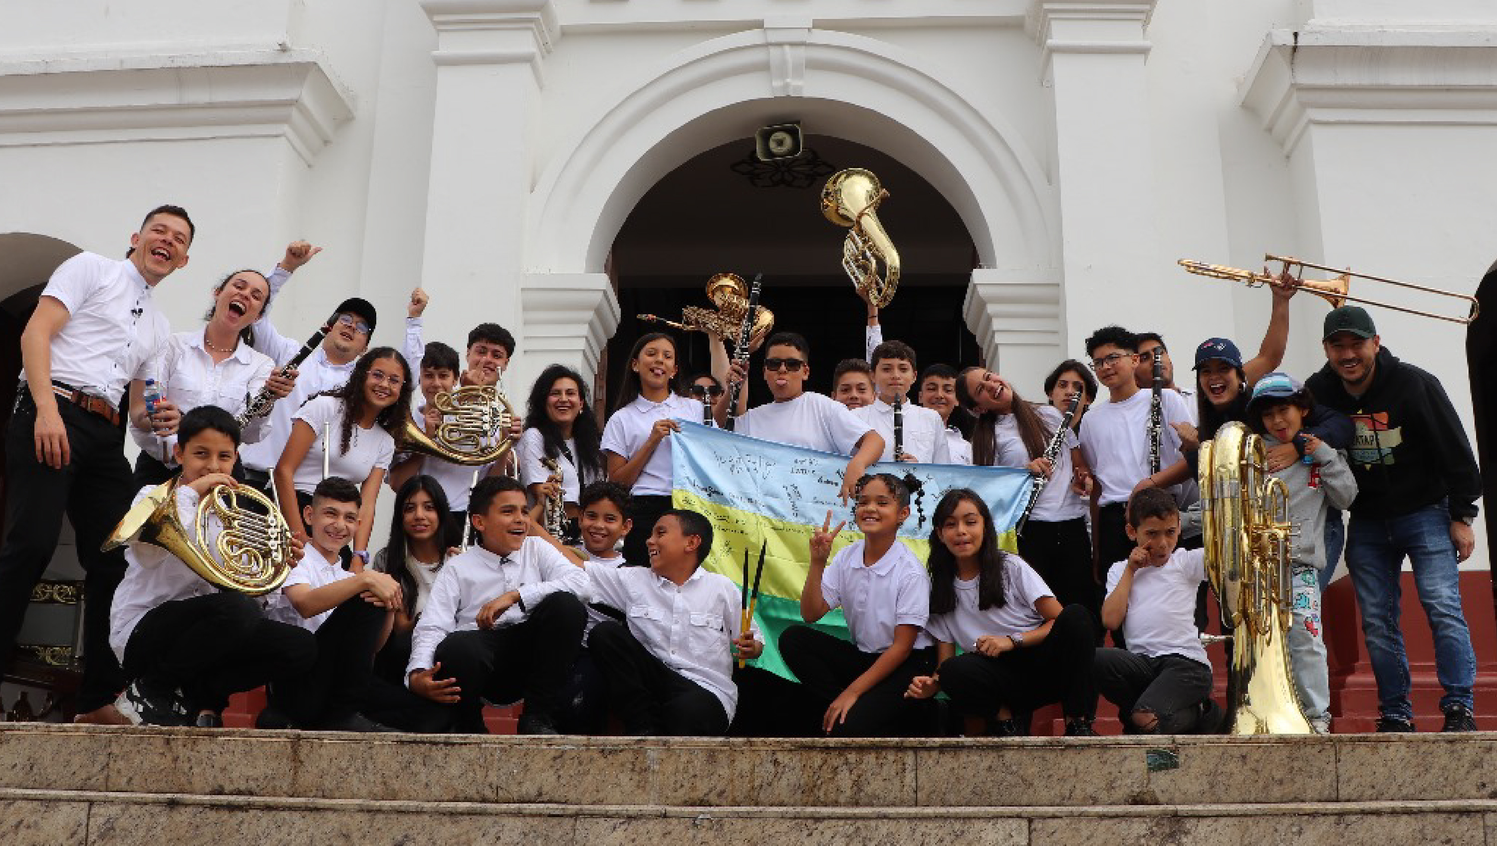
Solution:
[[(135, 485), (159, 485), (177, 472), (172, 446), (177, 422), (198, 406), (219, 406), (238, 416), (269, 386), (274, 398), (290, 392), (295, 377), (275, 376), (275, 362), (254, 350), (253, 325), (271, 298), (271, 286), (253, 270), (235, 271), (213, 287), (213, 305), (202, 329), (177, 332), (147, 362), (145, 376), (130, 383), (130, 436), (141, 446)], [(145, 379), (162, 394), (154, 415), (147, 415)], [(269, 410), (269, 406), (266, 406)], [(269, 433), (269, 415), (246, 424), (243, 443)]]

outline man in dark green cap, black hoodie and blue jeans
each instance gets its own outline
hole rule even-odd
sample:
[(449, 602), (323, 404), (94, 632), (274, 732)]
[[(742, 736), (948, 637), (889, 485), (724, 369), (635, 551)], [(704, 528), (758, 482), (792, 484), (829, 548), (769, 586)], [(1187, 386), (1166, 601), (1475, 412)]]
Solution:
[(1434, 633), (1434, 666), (1445, 687), (1442, 731), (1476, 731), (1476, 653), (1457, 572), (1476, 545), (1472, 523), (1482, 496), (1470, 440), (1440, 380), (1383, 349), (1364, 308), (1343, 305), (1326, 314), (1322, 344), (1326, 365), (1307, 386), (1356, 427), (1347, 458), (1359, 493), (1350, 509), (1346, 569), (1377, 678), (1377, 731), (1415, 731), (1398, 627), (1406, 557)]

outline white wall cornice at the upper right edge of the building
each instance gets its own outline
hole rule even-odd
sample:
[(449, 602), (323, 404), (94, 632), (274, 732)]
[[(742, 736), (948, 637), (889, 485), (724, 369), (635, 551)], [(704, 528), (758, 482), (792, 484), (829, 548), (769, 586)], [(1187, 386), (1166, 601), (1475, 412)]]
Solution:
[(1274, 30), (1241, 103), (1286, 156), (1314, 124), (1497, 126), (1497, 28)]

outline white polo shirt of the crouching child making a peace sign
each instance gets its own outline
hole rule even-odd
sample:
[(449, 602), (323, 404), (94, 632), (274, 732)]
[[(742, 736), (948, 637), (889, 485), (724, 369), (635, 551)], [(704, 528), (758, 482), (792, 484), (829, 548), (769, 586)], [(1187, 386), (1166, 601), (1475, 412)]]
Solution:
[(895, 541), (882, 559), (862, 563), (864, 541), (843, 548), (822, 573), (822, 599), (841, 608), (852, 642), (865, 653), (894, 645), (895, 626), (919, 626), (915, 648), (931, 645), (925, 620), (931, 612), (931, 579), (909, 547)]

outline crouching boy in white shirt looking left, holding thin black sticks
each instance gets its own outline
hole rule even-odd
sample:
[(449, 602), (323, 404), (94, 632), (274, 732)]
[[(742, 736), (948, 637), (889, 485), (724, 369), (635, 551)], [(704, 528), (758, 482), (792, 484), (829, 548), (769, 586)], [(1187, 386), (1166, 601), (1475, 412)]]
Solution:
[(740, 630), (738, 585), (702, 569), (713, 524), (674, 508), (645, 545), (648, 570), (587, 564), (593, 596), (627, 614), (596, 624), (587, 639), (612, 708), (632, 735), (726, 734), (738, 705), (734, 659), (759, 657), (763, 644)]

